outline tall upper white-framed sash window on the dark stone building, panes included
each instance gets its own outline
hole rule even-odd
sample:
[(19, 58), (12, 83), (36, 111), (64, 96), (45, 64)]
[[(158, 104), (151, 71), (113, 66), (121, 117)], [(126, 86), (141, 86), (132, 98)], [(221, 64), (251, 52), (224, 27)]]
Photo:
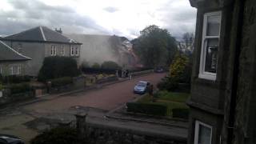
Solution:
[(216, 79), (221, 15), (220, 11), (204, 15), (199, 78)]

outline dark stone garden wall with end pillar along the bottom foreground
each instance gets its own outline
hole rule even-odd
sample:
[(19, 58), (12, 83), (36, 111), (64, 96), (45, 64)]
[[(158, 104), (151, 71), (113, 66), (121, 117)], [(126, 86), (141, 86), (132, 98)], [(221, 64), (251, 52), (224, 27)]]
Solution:
[(81, 136), (92, 144), (186, 144), (186, 138), (134, 130), (120, 126), (86, 122), (86, 115), (76, 115)]

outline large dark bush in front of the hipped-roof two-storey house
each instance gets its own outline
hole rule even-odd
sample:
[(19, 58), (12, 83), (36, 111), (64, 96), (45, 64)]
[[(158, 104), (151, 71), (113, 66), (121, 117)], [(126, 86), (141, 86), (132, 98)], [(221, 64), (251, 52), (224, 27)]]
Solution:
[(38, 81), (45, 82), (47, 79), (75, 77), (78, 74), (78, 65), (74, 58), (47, 57), (39, 71)]

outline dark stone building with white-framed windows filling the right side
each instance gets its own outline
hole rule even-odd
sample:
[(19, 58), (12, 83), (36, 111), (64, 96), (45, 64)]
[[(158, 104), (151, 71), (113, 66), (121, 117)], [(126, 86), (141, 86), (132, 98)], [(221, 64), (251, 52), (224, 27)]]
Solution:
[(254, 144), (256, 1), (190, 4), (198, 13), (188, 144)]

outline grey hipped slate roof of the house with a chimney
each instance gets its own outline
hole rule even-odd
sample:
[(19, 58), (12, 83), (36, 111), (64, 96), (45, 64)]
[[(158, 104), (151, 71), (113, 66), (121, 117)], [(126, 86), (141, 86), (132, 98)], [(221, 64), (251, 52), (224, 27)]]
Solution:
[(10, 36), (6, 36), (4, 38), (0, 38), (0, 40), (8, 40), (8, 41), (22, 41), (22, 42), (58, 42), (58, 43), (74, 43), (74, 44), (82, 44), (77, 42), (71, 38), (66, 38), (64, 35), (50, 30), (46, 26), (37, 26), (30, 30), (22, 31), (18, 34), (12, 34)]

